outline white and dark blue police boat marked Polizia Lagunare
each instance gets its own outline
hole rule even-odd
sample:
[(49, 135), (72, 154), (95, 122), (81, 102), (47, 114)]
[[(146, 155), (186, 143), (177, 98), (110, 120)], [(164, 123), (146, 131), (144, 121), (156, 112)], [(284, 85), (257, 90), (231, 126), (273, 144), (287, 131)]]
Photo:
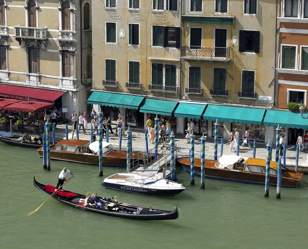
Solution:
[(130, 193), (160, 196), (174, 196), (185, 190), (180, 183), (149, 173), (117, 173), (105, 178), (102, 186)]

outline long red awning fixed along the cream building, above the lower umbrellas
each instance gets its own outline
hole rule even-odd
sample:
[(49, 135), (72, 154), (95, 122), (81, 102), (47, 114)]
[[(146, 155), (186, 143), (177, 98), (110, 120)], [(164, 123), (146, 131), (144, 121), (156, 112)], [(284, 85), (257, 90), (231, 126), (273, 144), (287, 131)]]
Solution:
[(0, 97), (53, 103), (65, 92), (0, 84)]

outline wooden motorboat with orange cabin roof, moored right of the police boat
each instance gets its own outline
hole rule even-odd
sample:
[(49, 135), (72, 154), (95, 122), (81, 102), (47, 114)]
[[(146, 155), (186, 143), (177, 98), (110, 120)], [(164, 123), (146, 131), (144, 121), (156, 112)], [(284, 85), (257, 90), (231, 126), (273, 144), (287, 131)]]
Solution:
[[(183, 169), (190, 173), (190, 159), (180, 158), (178, 162)], [(236, 155), (222, 156), (219, 160), (205, 159), (205, 177), (237, 181), (253, 184), (265, 184), (265, 159), (241, 158)], [(277, 162), (271, 161), (269, 172), (269, 184), (277, 185)], [(200, 176), (201, 160), (195, 158), (195, 173)], [(303, 176), (302, 173), (282, 167), (281, 186), (297, 187)]]

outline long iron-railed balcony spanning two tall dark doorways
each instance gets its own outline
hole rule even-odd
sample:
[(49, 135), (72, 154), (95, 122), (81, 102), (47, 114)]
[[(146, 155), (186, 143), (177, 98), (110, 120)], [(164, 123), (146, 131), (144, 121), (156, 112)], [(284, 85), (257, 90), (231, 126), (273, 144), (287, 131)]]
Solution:
[(230, 61), (230, 47), (182, 46), (181, 58), (185, 60)]

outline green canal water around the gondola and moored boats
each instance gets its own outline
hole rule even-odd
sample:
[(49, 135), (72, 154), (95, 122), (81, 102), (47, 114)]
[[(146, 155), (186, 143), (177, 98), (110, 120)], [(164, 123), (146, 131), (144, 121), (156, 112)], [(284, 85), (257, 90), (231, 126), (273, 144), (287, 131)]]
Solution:
[[(205, 179), (205, 189), (190, 185), (178, 167), (186, 190), (174, 197), (145, 196), (108, 190), (100, 184), (116, 168), (51, 161), (42, 166), (35, 149), (0, 144), (0, 248), (307, 248), (308, 176), (297, 189), (276, 187), (264, 197), (264, 186)], [(168, 221), (134, 221), (92, 214), (49, 199), (33, 186), (57, 182), (63, 167), (75, 177), (65, 189), (97, 191), (119, 201), (160, 209), (178, 206), (180, 217)], [(120, 169), (124, 171), (124, 169)]]

